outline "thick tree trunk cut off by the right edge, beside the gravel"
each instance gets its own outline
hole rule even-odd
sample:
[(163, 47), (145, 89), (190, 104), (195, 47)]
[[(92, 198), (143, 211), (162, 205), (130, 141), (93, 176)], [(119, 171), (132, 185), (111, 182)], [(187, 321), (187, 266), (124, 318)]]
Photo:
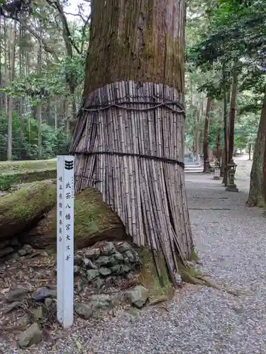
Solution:
[(266, 193), (266, 89), (260, 115), (260, 125), (257, 130), (257, 139), (253, 151), (253, 164), (250, 173), (250, 192), (248, 206), (265, 205)]

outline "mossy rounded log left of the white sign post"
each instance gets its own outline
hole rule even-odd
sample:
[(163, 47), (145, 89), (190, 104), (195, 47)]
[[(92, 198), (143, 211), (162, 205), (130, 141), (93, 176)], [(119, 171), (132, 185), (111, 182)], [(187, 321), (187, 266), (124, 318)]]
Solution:
[(0, 240), (31, 227), (56, 204), (54, 181), (34, 182), (0, 197)]

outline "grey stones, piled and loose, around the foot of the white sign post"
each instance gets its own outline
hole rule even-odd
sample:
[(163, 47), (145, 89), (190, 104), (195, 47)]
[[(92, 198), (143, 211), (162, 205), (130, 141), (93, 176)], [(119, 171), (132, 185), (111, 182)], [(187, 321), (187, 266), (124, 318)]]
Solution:
[[(17, 245), (16, 258), (28, 258), (33, 256), (35, 250), (29, 245)], [(131, 275), (138, 276), (140, 258), (138, 253), (127, 242), (113, 243), (110, 241), (99, 242), (90, 249), (78, 251), (74, 256), (75, 284), (77, 278), (82, 278), (85, 287), (102, 287), (115, 278), (116, 286), (125, 281), (131, 284)], [(112, 282), (111, 282), (112, 283)], [(112, 283), (113, 284), (113, 283)], [(133, 282), (133, 285), (136, 283)], [(77, 289), (76, 289), (77, 290)], [(149, 299), (149, 292), (145, 287), (137, 285), (128, 288), (126, 292), (115, 291), (116, 296), (104, 294), (86, 293), (74, 301), (74, 312), (82, 319), (91, 319), (99, 312), (113, 311), (121, 302), (131, 304), (140, 309)], [(76, 293), (76, 292), (75, 292)], [(43, 339), (43, 328), (47, 328), (56, 319), (57, 290), (55, 287), (38, 287), (35, 290), (17, 288), (9, 290), (6, 294), (4, 307), (0, 314), (4, 316), (17, 313), (17, 324), (26, 327), (26, 330), (18, 336), (18, 346), (28, 348)], [(82, 302), (79, 302), (80, 300)]]

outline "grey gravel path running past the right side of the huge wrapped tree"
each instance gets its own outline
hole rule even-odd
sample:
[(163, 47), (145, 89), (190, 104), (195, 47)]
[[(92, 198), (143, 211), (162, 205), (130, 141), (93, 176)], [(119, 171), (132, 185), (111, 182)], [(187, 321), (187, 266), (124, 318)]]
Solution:
[[(248, 168), (239, 170), (244, 172), (238, 173), (238, 187), (247, 190)], [(226, 192), (211, 176), (187, 175), (186, 180), (204, 270), (220, 285), (245, 290), (242, 295), (186, 285), (168, 311), (145, 308), (138, 316), (121, 312), (98, 326), (84, 322), (83, 329), (72, 329), (55, 344), (25, 351), (6, 347), (4, 353), (266, 353), (266, 218), (261, 210), (245, 207), (245, 191)]]

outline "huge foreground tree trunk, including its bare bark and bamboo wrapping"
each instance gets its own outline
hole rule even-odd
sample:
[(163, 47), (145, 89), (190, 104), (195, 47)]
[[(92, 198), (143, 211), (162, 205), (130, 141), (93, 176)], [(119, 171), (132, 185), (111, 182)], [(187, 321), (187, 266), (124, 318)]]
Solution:
[(164, 254), (172, 282), (193, 249), (182, 164), (185, 13), (185, 0), (92, 1), (72, 144), (76, 191), (95, 185), (135, 244)]

